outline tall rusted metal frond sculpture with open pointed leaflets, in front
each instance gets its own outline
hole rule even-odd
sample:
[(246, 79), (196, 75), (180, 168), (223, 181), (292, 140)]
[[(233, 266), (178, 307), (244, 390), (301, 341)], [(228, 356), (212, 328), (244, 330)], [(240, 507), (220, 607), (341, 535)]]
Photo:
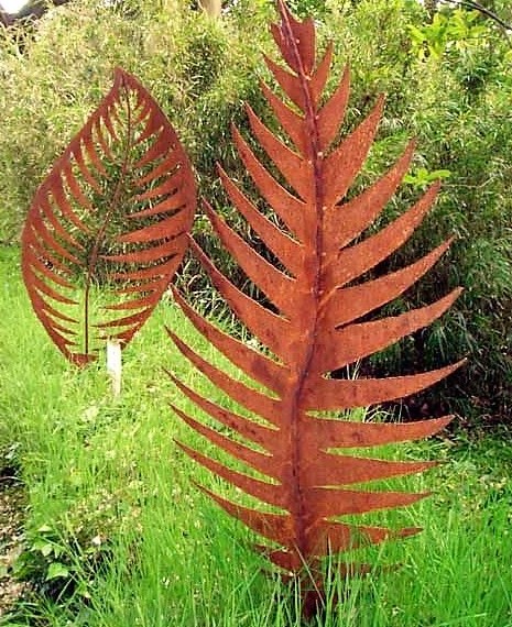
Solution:
[[(449, 242), (403, 270), (362, 280), (368, 271), (410, 238), (432, 206), (438, 186), (434, 185), (405, 215), (381, 231), (360, 238), (400, 185), (413, 146), (408, 145), (396, 164), (371, 187), (344, 200), (372, 144), (382, 100), (351, 134), (333, 146), (348, 100), (348, 72), (330, 99), (322, 105), (333, 50), (329, 46), (316, 64), (313, 21), (297, 22), (282, 1), (280, 13), (281, 23), (272, 28), (272, 34), (288, 69), (271, 59), (266, 64), (292, 105), (264, 85), (263, 92), (293, 147), (270, 132), (251, 109), (248, 116), (254, 136), (281, 173), (283, 184), (233, 130), (240, 157), (279, 221), (269, 220), (220, 169), (231, 202), (280, 266), (265, 261), (206, 205), (219, 239), (272, 307), (265, 308), (239, 290), (192, 243), (215, 287), (268, 350), (258, 352), (220, 331), (176, 292), (195, 328), (257, 385), (231, 377), (168, 332), (183, 355), (253, 416), (248, 418), (222, 408), (171, 375), (179, 391), (219, 428), (199, 422), (178, 407), (173, 409), (198, 433), (251, 470), (248, 474), (239, 472), (186, 444), (179, 446), (219, 477), (275, 508), (262, 512), (206, 491), (226, 512), (270, 541), (264, 550), (274, 564), (298, 574), (305, 564), (308, 572), (317, 573), (322, 557), (329, 552), (418, 531), (355, 525), (340, 517), (415, 503), (425, 494), (363, 491), (355, 484), (417, 473), (431, 468), (432, 462), (369, 459), (353, 452), (339, 454), (339, 449), (424, 438), (443, 429), (450, 417), (414, 424), (371, 424), (351, 421), (347, 414), (338, 419), (326, 414), (413, 394), (447, 376), (459, 364), (390, 378), (336, 380), (329, 375), (429, 324), (450, 307), (459, 289), (401, 316), (362, 320), (412, 286), (447, 250)], [(226, 427), (233, 437), (229, 437)], [(347, 566), (349, 572), (366, 572), (368, 568)], [(303, 584), (307, 587), (306, 580)], [(322, 598), (319, 585), (317, 582), (316, 587), (304, 591), (306, 613)]]

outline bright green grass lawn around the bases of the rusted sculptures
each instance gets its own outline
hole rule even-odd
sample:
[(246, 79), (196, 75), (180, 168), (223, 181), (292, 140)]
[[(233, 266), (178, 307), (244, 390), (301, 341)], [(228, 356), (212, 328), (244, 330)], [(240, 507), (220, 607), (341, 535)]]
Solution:
[[(0, 450), (17, 457), (26, 487), (25, 551), (17, 568), (36, 590), (0, 624), (298, 627), (297, 595), (264, 573), (254, 537), (193, 480), (231, 497), (233, 491), (174, 443), (208, 449), (168, 408), (187, 403), (162, 369), (213, 398), (216, 392), (172, 346), (164, 324), (217, 359), (177, 308), (162, 302), (127, 348), (119, 399), (102, 363), (78, 371), (51, 344), (31, 311), (15, 249), (0, 250)], [(425, 530), (360, 556), (384, 566), (380, 572), (350, 582), (333, 578), (331, 596), (344, 603), (328, 604), (315, 625), (512, 626), (506, 433), (458, 435), (397, 450), (444, 462), (406, 482), (434, 491), (432, 498), (380, 516)]]

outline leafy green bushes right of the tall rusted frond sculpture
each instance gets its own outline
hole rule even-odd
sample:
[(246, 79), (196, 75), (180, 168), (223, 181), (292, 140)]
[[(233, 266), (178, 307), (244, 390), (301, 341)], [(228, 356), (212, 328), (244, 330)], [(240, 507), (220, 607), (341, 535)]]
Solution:
[[(375, 3), (361, 2), (358, 11), (347, 16), (349, 24), (358, 18), (368, 20), (364, 4), (367, 10), (375, 10)], [(446, 24), (443, 51), (425, 55), (407, 35), (415, 20), (417, 28), (428, 28), (425, 18), (416, 9), (407, 12), (405, 2), (392, 6), (394, 15), (391, 10), (389, 19), (395, 34), (386, 35), (391, 55), (379, 45), (382, 35), (374, 33), (371, 40), (372, 46), (383, 51), (378, 56), (383, 66), (378, 74), (386, 84), (382, 87), (399, 95), (386, 109), (382, 145), (385, 151), (402, 133), (415, 134), (418, 144), (413, 187), (423, 187), (425, 172), (440, 170), (445, 177), (428, 224), (412, 242), (405, 258), (397, 262), (417, 256), (448, 233), (457, 238), (450, 258), (442, 262), (403, 306), (432, 301), (458, 284), (465, 286), (465, 294), (447, 319), (418, 334), (414, 342), (382, 355), (381, 365), (395, 370), (399, 364), (401, 369), (412, 367), (423, 361), (432, 366), (435, 355), (447, 359), (467, 354), (464, 372), (445, 387), (442, 398), (431, 393), (426, 405), (432, 399), (454, 407), (456, 402), (455, 407), (462, 413), (505, 418), (512, 389), (512, 128), (508, 105), (512, 54), (501, 33), (481, 15), (447, 11), (439, 18)], [(352, 22), (351, 31), (364, 31), (363, 22)], [(351, 44), (357, 46), (357, 41)], [(401, 54), (401, 50), (405, 52)], [(357, 59), (362, 56), (359, 51), (353, 55)], [(361, 75), (374, 72), (374, 65), (369, 69), (358, 65)], [(378, 163), (379, 155), (374, 160)], [(399, 207), (402, 210), (400, 198), (396, 205), (390, 207), (392, 215)]]

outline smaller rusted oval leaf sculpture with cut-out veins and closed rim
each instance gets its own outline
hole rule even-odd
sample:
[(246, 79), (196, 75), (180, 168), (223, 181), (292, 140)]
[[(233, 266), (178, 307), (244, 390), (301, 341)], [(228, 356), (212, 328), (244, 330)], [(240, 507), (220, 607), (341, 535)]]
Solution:
[(131, 340), (182, 261), (195, 206), (175, 131), (146, 89), (118, 68), (39, 187), (22, 233), (32, 306), (67, 359), (86, 364), (106, 338)]

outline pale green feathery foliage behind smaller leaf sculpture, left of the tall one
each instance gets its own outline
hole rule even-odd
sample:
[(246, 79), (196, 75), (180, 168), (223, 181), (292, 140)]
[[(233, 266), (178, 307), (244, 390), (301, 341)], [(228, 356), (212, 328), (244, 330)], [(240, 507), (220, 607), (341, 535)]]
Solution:
[[(15, 240), (33, 193), (121, 65), (168, 113), (205, 186), (229, 158), (229, 122), (257, 90), (266, 29), (242, 14), (208, 20), (181, 1), (106, 7), (84, 0), (48, 12), (33, 32), (0, 31), (0, 240)], [(137, 8), (137, 11), (135, 11)], [(244, 14), (246, 15), (246, 14)], [(264, 21), (264, 18), (258, 18)], [(65, 59), (65, 62), (64, 62)], [(7, 121), (7, 122), (6, 122)]]

